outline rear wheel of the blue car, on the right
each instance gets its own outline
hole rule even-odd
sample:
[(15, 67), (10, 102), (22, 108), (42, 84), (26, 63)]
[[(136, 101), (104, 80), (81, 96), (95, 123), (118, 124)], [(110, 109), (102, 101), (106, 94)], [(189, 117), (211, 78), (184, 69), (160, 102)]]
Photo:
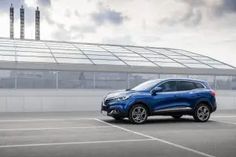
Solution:
[(210, 118), (210, 107), (205, 103), (200, 103), (194, 110), (193, 118), (197, 122), (206, 122)]

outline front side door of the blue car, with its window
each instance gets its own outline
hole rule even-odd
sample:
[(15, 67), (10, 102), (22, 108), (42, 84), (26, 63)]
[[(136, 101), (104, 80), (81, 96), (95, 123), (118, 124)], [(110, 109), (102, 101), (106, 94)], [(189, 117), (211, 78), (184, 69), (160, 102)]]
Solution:
[(176, 106), (176, 81), (167, 81), (158, 87), (161, 87), (161, 91), (152, 96), (154, 112), (165, 111)]

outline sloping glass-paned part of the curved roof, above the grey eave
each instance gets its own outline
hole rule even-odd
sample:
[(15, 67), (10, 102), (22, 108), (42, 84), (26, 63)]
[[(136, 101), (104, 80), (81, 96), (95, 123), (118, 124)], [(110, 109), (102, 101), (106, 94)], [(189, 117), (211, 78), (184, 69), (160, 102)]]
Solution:
[(180, 49), (6, 38), (0, 38), (0, 61), (234, 69), (213, 58)]

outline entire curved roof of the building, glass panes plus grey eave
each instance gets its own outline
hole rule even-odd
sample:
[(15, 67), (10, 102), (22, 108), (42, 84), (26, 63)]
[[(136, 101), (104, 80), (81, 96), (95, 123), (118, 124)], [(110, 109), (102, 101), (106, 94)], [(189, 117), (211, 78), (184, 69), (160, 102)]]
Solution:
[(235, 73), (231, 65), (180, 49), (8, 38), (0, 38), (0, 68)]

